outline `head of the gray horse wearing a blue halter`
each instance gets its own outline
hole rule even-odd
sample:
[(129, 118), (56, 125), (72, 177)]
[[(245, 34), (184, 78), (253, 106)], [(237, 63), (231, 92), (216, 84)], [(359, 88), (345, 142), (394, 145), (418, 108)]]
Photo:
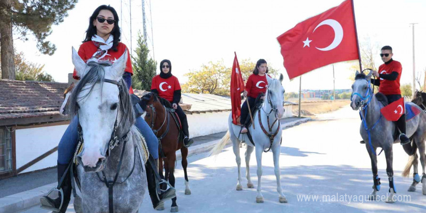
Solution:
[(368, 75), (356, 71), (355, 82), (352, 84), (352, 95), (350, 97), (350, 106), (353, 110), (359, 110), (361, 106), (368, 103), (372, 98), (372, 91), (370, 87), (370, 79), (373, 72), (370, 71)]

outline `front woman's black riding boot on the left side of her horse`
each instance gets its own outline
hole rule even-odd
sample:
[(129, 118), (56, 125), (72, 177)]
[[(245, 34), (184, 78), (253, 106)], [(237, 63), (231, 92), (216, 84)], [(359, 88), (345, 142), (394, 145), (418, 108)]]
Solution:
[[(63, 182), (62, 182), (62, 186), (61, 189), (63, 191), (63, 195), (61, 195), (61, 193), (59, 193), (59, 197), (58, 198), (49, 198), (47, 196), (43, 196), (40, 198), (40, 204), (41, 207), (44, 209), (48, 209), (48, 210), (52, 210), (53, 212), (59, 212), (59, 213), (65, 213), (67, 208), (68, 208), (68, 204), (70, 203), (70, 199), (71, 199), (71, 193), (72, 193), (72, 186), (71, 186), (71, 177), (69, 175), (69, 172), (67, 170), (68, 168), (68, 164), (58, 164), (58, 183), (61, 182), (61, 178), (64, 175), (64, 173), (66, 172)], [(63, 203), (61, 206), (61, 197), (63, 196)], [(61, 209), (59, 209), (61, 207)]]

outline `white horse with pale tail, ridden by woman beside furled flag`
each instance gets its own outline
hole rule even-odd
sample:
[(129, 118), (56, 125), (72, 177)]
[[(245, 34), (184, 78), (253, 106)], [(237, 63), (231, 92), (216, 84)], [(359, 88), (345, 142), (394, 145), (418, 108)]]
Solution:
[[(256, 160), (258, 163), (258, 188), (256, 202), (263, 202), (263, 195), (261, 192), (261, 176), (262, 176), (262, 152), (265, 150), (272, 150), (274, 155), (274, 171), (276, 176), (276, 191), (278, 192), (279, 202), (287, 203), (287, 199), (284, 196), (281, 188), (280, 181), (280, 167), (279, 167), (279, 156), (281, 151), (281, 136), (282, 129), (279, 123), (279, 119), (284, 114), (284, 88), (282, 86), (283, 75), (280, 75), (279, 80), (266, 76), (268, 81), (268, 89), (266, 91), (265, 101), (261, 108), (253, 115), (253, 124), (248, 128), (254, 145), (249, 141), (246, 134), (240, 134), (241, 126), (232, 123), (232, 115), (229, 114), (228, 119), (228, 133), (221, 139), (221, 141), (212, 149), (211, 155), (218, 154), (222, 151), (223, 147), (228, 142), (229, 138), (232, 141), (232, 147), (236, 156), (237, 167), (238, 167), (238, 182), (237, 190), (243, 189), (241, 185), (241, 158), (240, 158), (240, 143), (245, 142), (247, 144), (247, 151), (245, 152), (245, 167), (246, 167), (246, 178), (247, 187), (254, 188), (253, 183), (250, 180), (250, 155), (253, 152), (253, 148), (256, 148)], [(253, 128), (254, 125), (254, 128)], [(267, 135), (269, 134), (269, 136)], [(273, 135), (273, 136), (272, 136)], [(273, 138), (271, 140), (271, 138)]]

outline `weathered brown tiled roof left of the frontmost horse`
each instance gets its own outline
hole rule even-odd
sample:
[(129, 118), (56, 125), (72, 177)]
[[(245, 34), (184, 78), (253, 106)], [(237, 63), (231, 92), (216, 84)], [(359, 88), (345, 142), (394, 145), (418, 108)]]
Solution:
[(0, 79), (0, 121), (59, 114), (67, 83)]

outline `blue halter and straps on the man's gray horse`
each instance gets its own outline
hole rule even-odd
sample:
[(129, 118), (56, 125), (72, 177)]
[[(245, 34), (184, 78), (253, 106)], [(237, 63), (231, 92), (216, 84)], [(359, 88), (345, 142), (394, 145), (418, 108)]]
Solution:
[[(379, 123), (379, 121), (381, 119), (381, 113), (380, 113), (380, 117), (377, 120), (377, 122), (374, 123), (374, 125), (371, 128), (368, 128), (368, 125), (367, 125), (367, 122), (365, 121), (365, 118), (367, 117), (367, 108), (368, 108), (368, 105), (370, 104), (371, 99), (373, 98), (373, 91), (371, 90), (370, 82), (368, 82), (368, 80), (366, 80), (366, 79), (365, 79), (365, 81), (367, 81), (367, 83), (368, 83), (368, 90), (365, 91), (365, 95), (362, 96), (358, 92), (352, 93), (352, 95), (350, 96), (350, 101), (353, 101), (353, 97), (355, 95), (358, 95), (358, 96), (361, 97), (361, 107), (360, 107), (359, 113), (360, 113), (360, 116), (361, 116), (361, 121), (363, 122), (364, 128), (365, 128), (365, 130), (367, 131), (367, 134), (368, 134), (368, 145), (370, 146), (371, 152), (374, 155), (380, 155), (380, 153), (383, 152), (383, 149), (381, 149), (381, 151), (379, 152), (379, 154), (376, 154), (376, 151), (374, 151), (373, 145), (371, 144), (371, 131)], [(367, 100), (367, 102), (365, 102), (365, 100)], [(363, 117), (363, 114), (361, 113), (361, 109), (364, 110), (364, 117)]]

